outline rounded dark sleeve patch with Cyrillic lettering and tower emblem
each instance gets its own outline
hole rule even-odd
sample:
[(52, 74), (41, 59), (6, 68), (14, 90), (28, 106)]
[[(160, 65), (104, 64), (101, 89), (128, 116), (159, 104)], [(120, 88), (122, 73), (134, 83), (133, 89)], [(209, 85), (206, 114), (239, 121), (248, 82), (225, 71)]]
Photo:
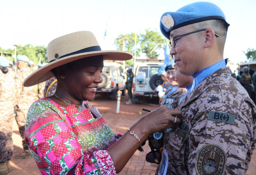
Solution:
[(222, 175), (225, 173), (227, 155), (219, 145), (204, 145), (197, 153), (196, 172), (199, 175)]

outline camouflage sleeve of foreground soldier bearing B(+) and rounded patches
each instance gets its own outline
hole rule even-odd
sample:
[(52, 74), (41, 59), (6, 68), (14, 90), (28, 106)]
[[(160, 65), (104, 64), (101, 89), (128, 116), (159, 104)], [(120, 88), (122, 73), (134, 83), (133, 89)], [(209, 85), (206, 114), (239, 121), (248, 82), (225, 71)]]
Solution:
[(245, 174), (254, 148), (252, 115), (252, 110), (244, 114), (230, 104), (217, 103), (196, 116), (189, 131), (193, 138), (189, 142), (190, 173), (218, 168), (220, 174)]

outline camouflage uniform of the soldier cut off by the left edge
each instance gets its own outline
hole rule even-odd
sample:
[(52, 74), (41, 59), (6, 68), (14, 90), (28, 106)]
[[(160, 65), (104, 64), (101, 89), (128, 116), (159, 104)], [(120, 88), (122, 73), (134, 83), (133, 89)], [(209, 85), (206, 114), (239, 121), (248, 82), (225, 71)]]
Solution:
[(0, 73), (0, 163), (12, 157), (12, 125), (14, 119), (14, 73)]

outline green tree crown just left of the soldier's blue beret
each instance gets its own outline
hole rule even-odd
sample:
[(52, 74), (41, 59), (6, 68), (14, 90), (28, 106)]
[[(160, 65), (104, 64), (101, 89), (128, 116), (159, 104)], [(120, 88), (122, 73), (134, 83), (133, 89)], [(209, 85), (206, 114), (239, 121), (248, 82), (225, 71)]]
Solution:
[(142, 34), (140, 37), (141, 49), (147, 58), (157, 59), (159, 54), (156, 50), (165, 47), (165, 41), (162, 34), (155, 30), (146, 29), (146, 34)]

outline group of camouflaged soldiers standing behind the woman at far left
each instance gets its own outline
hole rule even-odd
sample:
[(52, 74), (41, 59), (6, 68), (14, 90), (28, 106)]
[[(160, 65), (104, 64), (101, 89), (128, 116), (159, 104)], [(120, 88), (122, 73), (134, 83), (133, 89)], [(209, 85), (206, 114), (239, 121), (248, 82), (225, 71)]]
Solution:
[[(38, 69), (43, 65), (38, 64)], [(0, 175), (11, 171), (10, 159), (13, 150), (11, 136), (14, 118), (18, 124), (23, 145), (23, 151), (14, 157), (16, 159), (31, 158), (24, 139), (27, 111), (35, 100), (46, 97), (46, 94), (48, 96), (54, 94), (57, 85), (52, 78), (35, 86), (24, 87), (25, 78), (35, 71), (34, 62), (30, 61), (26, 55), (18, 55), (15, 65), (18, 69), (16, 73), (14, 71), (16, 68), (13, 69), (13, 66), (11, 61), (0, 57)]]

